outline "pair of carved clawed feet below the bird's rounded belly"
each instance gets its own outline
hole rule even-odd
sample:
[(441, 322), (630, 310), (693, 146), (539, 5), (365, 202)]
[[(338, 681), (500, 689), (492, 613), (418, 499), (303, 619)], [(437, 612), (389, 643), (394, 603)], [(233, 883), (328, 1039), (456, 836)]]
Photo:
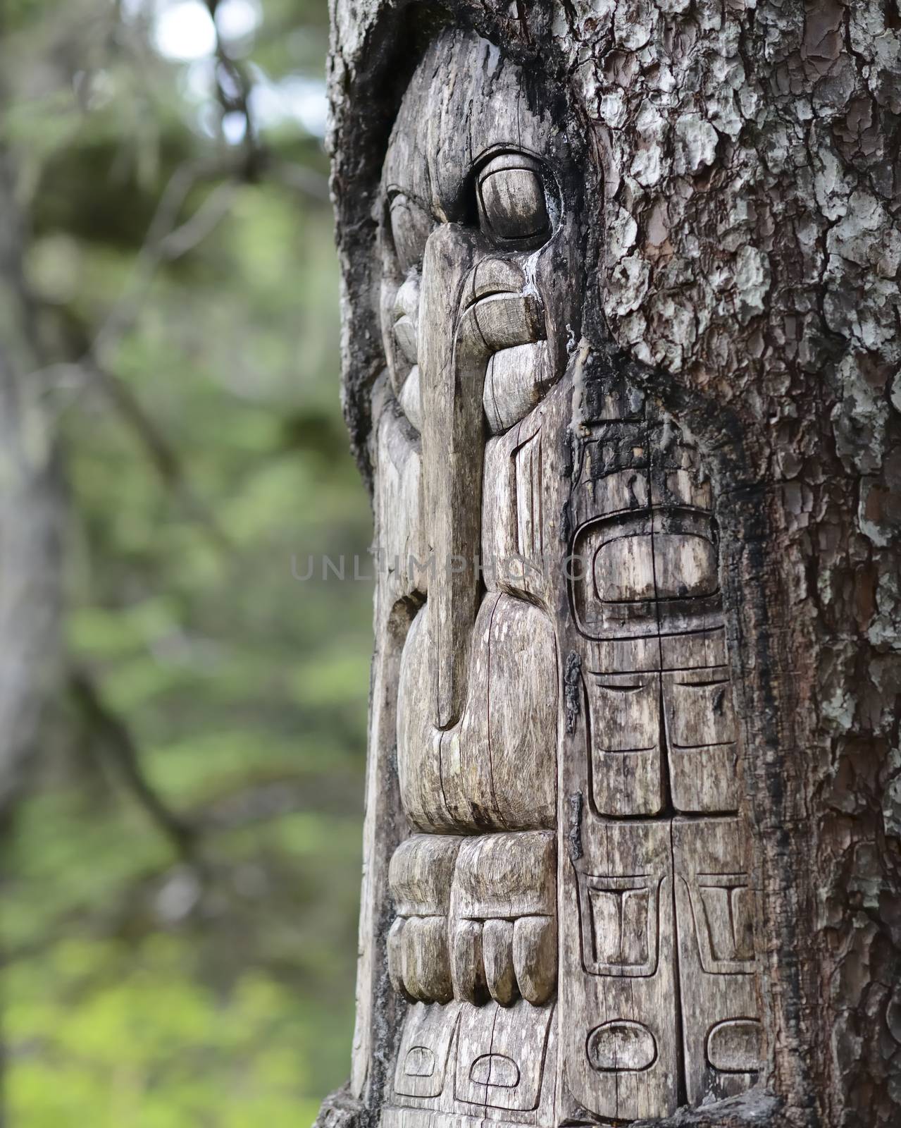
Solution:
[(553, 832), (417, 835), (398, 847), (389, 880), (388, 969), (406, 999), (540, 1006), (554, 996)]

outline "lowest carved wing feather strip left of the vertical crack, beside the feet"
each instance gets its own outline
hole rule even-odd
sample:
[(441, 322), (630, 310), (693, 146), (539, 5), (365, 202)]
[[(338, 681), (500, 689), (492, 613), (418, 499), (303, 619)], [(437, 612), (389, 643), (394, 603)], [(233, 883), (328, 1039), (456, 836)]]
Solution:
[(679, 1103), (670, 825), (586, 818), (581, 841), (560, 901), (567, 1089), (602, 1117), (663, 1117)]

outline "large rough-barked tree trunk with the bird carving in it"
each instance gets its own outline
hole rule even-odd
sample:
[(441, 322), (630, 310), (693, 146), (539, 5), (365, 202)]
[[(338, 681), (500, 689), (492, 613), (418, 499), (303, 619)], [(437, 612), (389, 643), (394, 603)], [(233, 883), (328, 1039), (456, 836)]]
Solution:
[(335, 0), (381, 555), (323, 1123), (901, 1122), (900, 49)]

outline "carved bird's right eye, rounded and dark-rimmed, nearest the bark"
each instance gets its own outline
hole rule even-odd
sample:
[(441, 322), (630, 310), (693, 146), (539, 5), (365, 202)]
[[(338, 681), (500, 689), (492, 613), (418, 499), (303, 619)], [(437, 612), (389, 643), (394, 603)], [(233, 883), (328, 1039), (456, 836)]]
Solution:
[(541, 166), (524, 153), (507, 152), (478, 174), (483, 231), (496, 239), (535, 241), (550, 231)]

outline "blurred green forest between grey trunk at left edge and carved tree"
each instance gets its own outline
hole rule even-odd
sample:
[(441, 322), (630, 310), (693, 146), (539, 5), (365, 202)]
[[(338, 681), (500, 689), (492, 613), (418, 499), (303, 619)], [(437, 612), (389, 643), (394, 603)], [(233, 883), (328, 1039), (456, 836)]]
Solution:
[(326, 0), (0, 10), (65, 510), (5, 812), (3, 1122), (298, 1128), (348, 1072), (371, 651)]

